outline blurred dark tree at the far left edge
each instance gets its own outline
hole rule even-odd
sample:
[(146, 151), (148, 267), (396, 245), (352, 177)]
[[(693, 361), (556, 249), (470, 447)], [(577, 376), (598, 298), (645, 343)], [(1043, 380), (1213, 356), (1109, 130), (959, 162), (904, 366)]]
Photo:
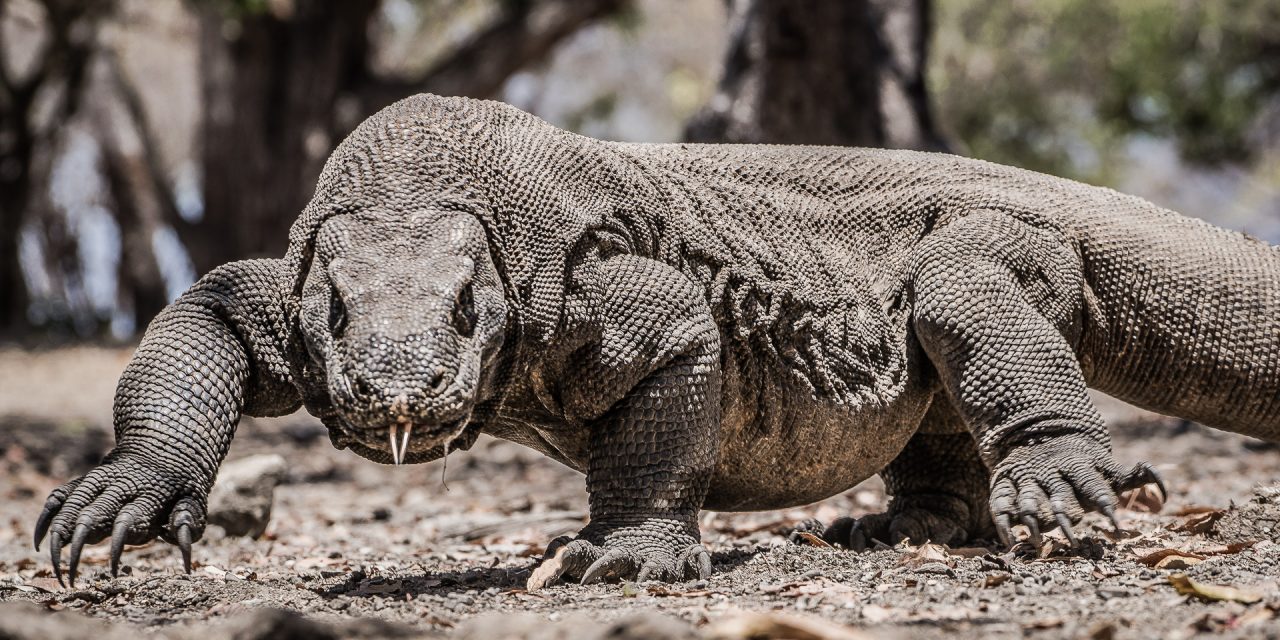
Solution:
[[(106, 0), (0, 0), (0, 17), (38, 33), (38, 47), (24, 68), (0, 37), (0, 334), (27, 325), (29, 296), (22, 269), (27, 225), (44, 236), (49, 271), (73, 278), (77, 244), (65, 220), (54, 215), (49, 180), (60, 131), (84, 101), (90, 63), (97, 51), (97, 26), (113, 10)], [(3, 33), (3, 29), (0, 29)]]

